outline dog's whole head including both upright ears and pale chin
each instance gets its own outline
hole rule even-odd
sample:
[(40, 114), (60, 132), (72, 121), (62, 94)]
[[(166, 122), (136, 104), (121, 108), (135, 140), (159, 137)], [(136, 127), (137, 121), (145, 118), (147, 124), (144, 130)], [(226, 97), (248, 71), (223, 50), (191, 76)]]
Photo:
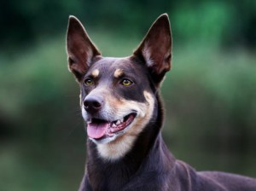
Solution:
[(125, 155), (153, 118), (155, 92), (171, 68), (172, 37), (166, 14), (160, 16), (130, 57), (102, 57), (84, 27), (70, 17), (69, 69), (80, 84), (87, 136), (105, 159)]

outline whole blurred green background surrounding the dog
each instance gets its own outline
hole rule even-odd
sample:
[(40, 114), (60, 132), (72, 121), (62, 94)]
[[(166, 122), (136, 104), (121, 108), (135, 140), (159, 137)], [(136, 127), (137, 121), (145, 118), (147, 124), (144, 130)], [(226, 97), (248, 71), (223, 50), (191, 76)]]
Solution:
[(26, 0), (0, 5), (0, 190), (77, 190), (85, 130), (67, 71), (68, 15), (105, 56), (131, 55), (168, 13), (164, 138), (197, 170), (256, 177), (256, 1)]

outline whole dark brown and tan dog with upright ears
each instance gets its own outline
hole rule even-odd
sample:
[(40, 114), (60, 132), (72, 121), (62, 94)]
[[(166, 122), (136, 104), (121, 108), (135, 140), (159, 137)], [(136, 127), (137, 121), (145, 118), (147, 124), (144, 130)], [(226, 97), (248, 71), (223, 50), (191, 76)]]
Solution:
[(168, 151), (160, 132), (159, 95), (171, 69), (167, 14), (125, 58), (102, 57), (79, 20), (70, 16), (67, 55), (87, 123), (87, 164), (79, 190), (256, 191), (256, 179), (196, 172)]

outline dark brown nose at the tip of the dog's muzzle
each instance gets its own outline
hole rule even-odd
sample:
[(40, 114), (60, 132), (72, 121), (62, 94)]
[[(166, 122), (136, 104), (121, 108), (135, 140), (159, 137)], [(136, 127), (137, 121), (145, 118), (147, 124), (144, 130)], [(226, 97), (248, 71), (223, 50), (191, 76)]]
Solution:
[(84, 109), (89, 113), (96, 113), (101, 110), (103, 98), (100, 96), (86, 97), (84, 100)]

